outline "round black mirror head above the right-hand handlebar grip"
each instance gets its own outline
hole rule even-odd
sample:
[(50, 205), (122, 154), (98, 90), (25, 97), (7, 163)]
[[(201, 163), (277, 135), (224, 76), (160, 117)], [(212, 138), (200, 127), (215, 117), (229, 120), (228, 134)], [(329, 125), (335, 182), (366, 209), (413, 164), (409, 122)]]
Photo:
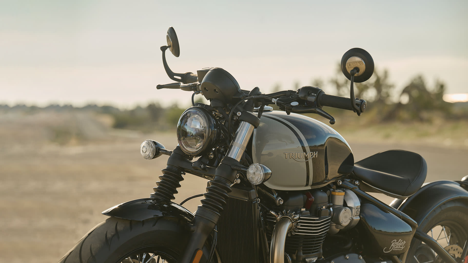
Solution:
[(341, 58), (341, 71), (351, 80), (351, 70), (358, 68), (359, 72), (354, 75), (354, 82), (364, 82), (374, 73), (374, 60), (371, 55), (362, 48), (352, 48), (346, 51)]

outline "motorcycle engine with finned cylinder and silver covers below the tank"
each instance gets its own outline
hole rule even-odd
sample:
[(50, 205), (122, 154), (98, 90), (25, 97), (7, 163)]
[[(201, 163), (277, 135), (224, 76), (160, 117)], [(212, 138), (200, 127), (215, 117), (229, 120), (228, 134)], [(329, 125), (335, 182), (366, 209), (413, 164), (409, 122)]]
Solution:
[(268, 193), (276, 205), (264, 211), (267, 239), (271, 235), (278, 215), (297, 214), (299, 219), (285, 241), (285, 262), (310, 263), (322, 258), (322, 244), (327, 234), (351, 229), (359, 221), (360, 202), (351, 190), (307, 190)]

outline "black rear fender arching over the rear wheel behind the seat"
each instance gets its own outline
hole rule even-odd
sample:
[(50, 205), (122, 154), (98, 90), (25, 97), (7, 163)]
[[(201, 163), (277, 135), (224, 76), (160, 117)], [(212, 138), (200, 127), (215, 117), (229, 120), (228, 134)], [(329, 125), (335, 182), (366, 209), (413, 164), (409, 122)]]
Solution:
[(398, 208), (420, 225), (440, 205), (455, 199), (468, 203), (468, 191), (453, 181), (435, 181), (424, 185)]

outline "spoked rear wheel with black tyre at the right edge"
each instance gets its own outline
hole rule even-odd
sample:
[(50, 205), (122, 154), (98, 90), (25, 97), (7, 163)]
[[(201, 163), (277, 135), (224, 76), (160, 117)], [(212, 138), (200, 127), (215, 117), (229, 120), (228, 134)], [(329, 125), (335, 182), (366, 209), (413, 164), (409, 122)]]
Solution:
[[(461, 252), (468, 238), (468, 205), (456, 200), (447, 202), (432, 211), (418, 228), (461, 262)], [(411, 263), (444, 262), (434, 250), (417, 239), (411, 241), (406, 259)]]

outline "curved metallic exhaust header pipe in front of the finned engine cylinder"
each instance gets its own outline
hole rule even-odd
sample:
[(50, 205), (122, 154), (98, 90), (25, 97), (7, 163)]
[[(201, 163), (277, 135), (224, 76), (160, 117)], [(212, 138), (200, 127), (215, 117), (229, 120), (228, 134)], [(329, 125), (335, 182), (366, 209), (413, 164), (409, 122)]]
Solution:
[(271, 237), (270, 263), (285, 263), (286, 235), (292, 230), (292, 219), (282, 217), (276, 222)]

